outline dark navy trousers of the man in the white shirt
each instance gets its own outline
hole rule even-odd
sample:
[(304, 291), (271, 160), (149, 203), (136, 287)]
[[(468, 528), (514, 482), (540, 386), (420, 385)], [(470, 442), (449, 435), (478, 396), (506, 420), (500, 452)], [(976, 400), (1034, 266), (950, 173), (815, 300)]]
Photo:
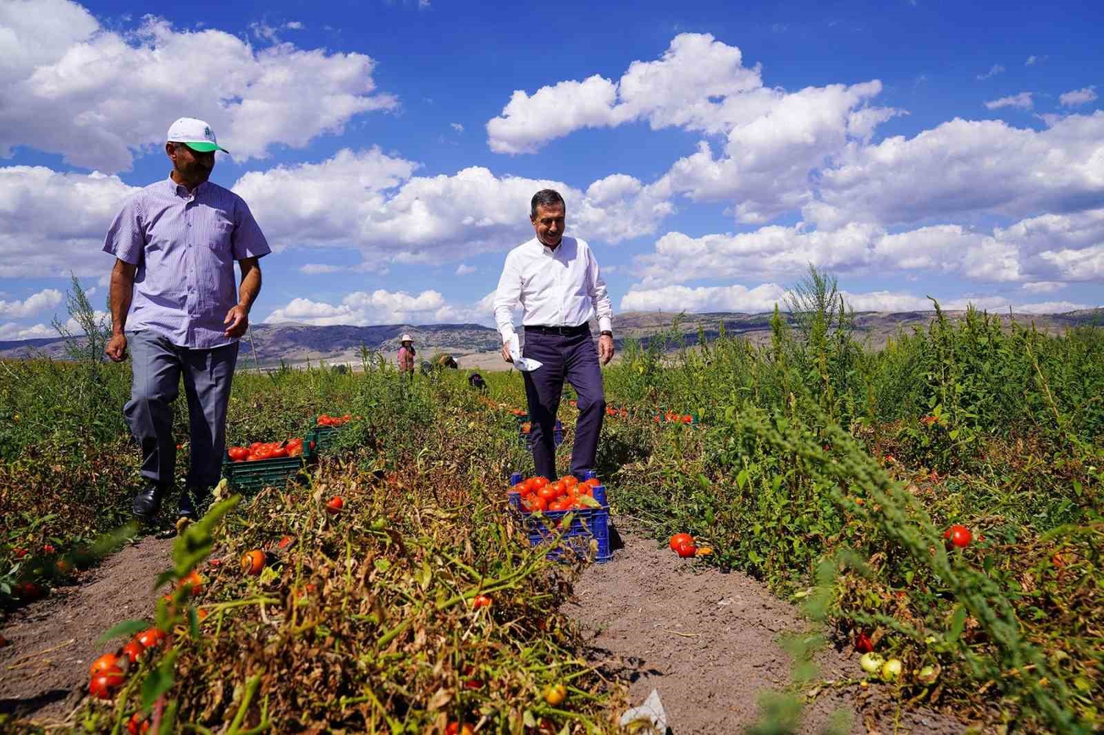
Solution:
[(584, 329), (571, 335), (526, 330), (521, 356), (543, 363), (533, 372), (521, 374), (526, 381), (526, 398), (532, 423), (530, 439), (537, 476), (550, 480), (559, 477), (553, 432), (563, 383), (567, 381), (578, 394), (578, 423), (575, 424), (575, 447), (571, 452), (571, 473), (582, 479), (586, 470), (594, 469), (598, 434), (606, 415), (598, 349), (591, 339), (591, 330)]

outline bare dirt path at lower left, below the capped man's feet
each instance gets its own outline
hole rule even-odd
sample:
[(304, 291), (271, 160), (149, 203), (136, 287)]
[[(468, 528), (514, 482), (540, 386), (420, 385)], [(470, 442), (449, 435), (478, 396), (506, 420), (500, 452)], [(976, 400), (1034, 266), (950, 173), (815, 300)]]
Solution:
[(17, 610), (3, 627), (0, 713), (60, 724), (84, 696), (88, 665), (119, 641), (96, 640), (112, 626), (149, 618), (153, 579), (169, 567), (172, 539), (146, 536), (82, 573), (76, 584)]

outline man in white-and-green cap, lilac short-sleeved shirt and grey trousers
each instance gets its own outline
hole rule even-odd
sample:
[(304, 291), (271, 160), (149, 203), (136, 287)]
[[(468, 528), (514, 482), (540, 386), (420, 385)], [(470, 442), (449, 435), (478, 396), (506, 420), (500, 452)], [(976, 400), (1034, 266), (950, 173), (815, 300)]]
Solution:
[(134, 513), (144, 520), (158, 513), (173, 487), (172, 402), (181, 375), (191, 465), (180, 515), (194, 518), (193, 501), (204, 501), (219, 481), (237, 340), (261, 291), (257, 259), (272, 252), (242, 198), (208, 181), (214, 151), (226, 152), (211, 126), (182, 117), (167, 140), (169, 178), (127, 199), (104, 243), (104, 252), (116, 258), (105, 352), (115, 362), (125, 360), (129, 332), (134, 383), (123, 413), (141, 446), (148, 484), (135, 496)]

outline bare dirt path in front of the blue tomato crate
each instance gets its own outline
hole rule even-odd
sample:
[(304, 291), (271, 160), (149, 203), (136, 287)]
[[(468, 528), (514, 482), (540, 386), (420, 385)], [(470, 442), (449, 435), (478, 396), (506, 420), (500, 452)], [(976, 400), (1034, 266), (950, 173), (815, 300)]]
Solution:
[[(758, 695), (789, 681), (779, 635), (808, 630), (808, 624), (744, 574), (696, 567), (639, 533), (623, 530), (622, 540), (613, 561), (584, 571), (563, 608), (583, 622), (592, 659), (628, 682), (634, 706), (658, 690), (673, 735), (739, 733), (756, 722)], [(861, 673), (853, 653), (825, 651), (818, 663), (826, 680)], [(821, 689), (827, 693), (806, 707), (799, 732), (821, 732), (838, 709), (850, 713), (852, 733), (894, 732), (892, 710), (863, 704), (875, 688)], [(896, 732), (964, 729), (955, 720), (920, 712), (903, 714)]]

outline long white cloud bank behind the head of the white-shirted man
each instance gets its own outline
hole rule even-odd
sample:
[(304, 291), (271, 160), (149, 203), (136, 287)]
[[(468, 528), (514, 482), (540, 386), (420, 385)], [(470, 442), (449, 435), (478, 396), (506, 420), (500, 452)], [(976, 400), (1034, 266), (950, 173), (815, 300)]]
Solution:
[(245, 198), (269, 242), (357, 248), (364, 264), (459, 260), (506, 251), (532, 236), (529, 201), (553, 188), (567, 201), (569, 232), (616, 243), (651, 234), (673, 211), (656, 187), (614, 174), (581, 192), (563, 182), (498, 177), (470, 167), (416, 177), (418, 164), (378, 148), (341, 150), (320, 163), (242, 177)]

